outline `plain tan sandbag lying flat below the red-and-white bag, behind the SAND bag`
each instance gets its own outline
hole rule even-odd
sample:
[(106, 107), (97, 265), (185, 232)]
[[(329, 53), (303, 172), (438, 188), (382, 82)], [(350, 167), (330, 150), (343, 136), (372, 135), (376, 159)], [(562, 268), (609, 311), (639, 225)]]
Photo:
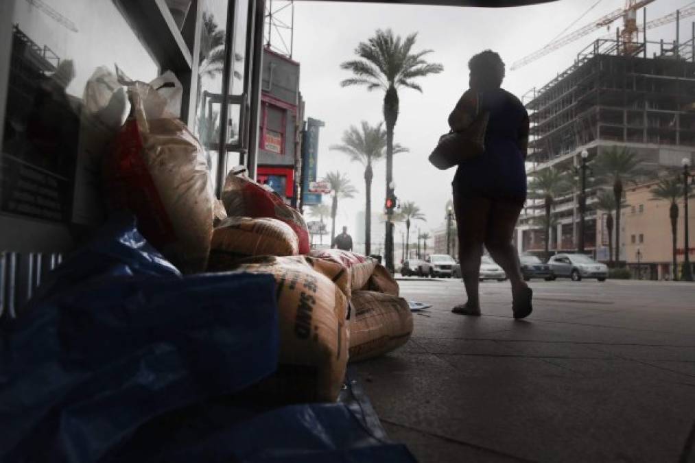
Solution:
[(228, 217), (213, 231), (210, 260), (232, 261), (248, 256), (297, 254), (297, 235), (272, 218)]

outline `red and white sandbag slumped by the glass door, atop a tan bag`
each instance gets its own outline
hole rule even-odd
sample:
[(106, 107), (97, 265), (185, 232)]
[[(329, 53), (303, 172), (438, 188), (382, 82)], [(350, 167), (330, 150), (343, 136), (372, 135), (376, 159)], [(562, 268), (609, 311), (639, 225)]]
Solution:
[(309, 254), (309, 228), (306, 227), (302, 214), (252, 179), (234, 171), (229, 172), (224, 181), (222, 202), (228, 216), (270, 217), (285, 222), (297, 234), (299, 253)]

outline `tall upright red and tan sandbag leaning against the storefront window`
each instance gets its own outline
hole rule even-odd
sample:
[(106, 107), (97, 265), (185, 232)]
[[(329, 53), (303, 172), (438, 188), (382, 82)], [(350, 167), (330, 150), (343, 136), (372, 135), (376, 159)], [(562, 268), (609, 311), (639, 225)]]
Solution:
[(215, 193), (205, 155), (152, 86), (128, 89), (132, 114), (104, 161), (112, 209), (129, 209), (138, 229), (184, 273), (206, 268)]

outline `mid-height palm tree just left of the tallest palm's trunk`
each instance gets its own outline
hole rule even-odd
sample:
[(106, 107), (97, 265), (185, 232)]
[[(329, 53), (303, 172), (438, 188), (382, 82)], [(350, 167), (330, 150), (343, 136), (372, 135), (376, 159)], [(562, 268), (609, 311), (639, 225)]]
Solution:
[[(343, 152), (350, 156), (350, 159), (364, 165), (364, 186), (366, 195), (365, 218), (364, 218), (364, 253), (371, 253), (372, 236), (372, 179), (374, 172), (372, 163), (384, 158), (384, 148), (386, 147), (386, 131), (382, 129), (382, 122), (370, 126), (368, 122), (362, 121), (361, 128), (357, 129), (354, 125), (343, 132), (343, 144), (333, 145), (331, 149)], [(393, 146), (393, 154), (407, 152), (398, 143)]]

